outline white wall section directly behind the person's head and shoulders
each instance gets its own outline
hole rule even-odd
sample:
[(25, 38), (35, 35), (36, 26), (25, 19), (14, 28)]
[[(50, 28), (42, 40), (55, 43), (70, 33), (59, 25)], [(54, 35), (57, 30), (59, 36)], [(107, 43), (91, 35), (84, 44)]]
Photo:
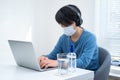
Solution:
[(38, 55), (49, 53), (62, 34), (62, 28), (55, 21), (55, 14), (58, 9), (67, 4), (78, 6), (84, 20), (82, 26), (95, 32), (95, 0), (36, 0), (32, 40)]

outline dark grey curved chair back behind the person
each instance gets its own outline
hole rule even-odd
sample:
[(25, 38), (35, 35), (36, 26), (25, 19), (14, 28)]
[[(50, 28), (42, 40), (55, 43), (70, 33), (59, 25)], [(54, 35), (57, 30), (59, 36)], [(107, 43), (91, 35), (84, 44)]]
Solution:
[(99, 47), (99, 69), (95, 72), (94, 80), (107, 80), (110, 72), (111, 56), (109, 52)]

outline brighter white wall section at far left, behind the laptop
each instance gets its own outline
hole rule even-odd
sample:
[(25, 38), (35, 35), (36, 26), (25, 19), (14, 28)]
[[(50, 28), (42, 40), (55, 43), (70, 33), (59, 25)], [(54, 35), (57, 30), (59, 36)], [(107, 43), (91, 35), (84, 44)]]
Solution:
[(0, 64), (14, 62), (8, 39), (26, 40), (33, 25), (32, 3), (32, 0), (0, 0)]

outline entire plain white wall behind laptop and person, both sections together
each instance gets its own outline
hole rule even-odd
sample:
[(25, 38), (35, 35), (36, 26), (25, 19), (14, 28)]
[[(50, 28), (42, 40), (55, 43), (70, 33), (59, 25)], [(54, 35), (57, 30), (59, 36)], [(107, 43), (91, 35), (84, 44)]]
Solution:
[(7, 40), (31, 41), (30, 27), (37, 55), (49, 53), (62, 34), (54, 16), (67, 4), (81, 9), (82, 26), (94, 32), (95, 0), (0, 0), (0, 64), (14, 62)]

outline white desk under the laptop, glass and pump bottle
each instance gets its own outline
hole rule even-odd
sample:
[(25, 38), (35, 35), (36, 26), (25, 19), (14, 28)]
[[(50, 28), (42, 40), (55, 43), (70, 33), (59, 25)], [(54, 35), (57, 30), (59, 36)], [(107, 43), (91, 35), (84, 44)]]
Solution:
[(93, 80), (94, 72), (77, 69), (75, 73), (62, 77), (57, 75), (57, 69), (38, 72), (16, 65), (0, 65), (0, 80)]

